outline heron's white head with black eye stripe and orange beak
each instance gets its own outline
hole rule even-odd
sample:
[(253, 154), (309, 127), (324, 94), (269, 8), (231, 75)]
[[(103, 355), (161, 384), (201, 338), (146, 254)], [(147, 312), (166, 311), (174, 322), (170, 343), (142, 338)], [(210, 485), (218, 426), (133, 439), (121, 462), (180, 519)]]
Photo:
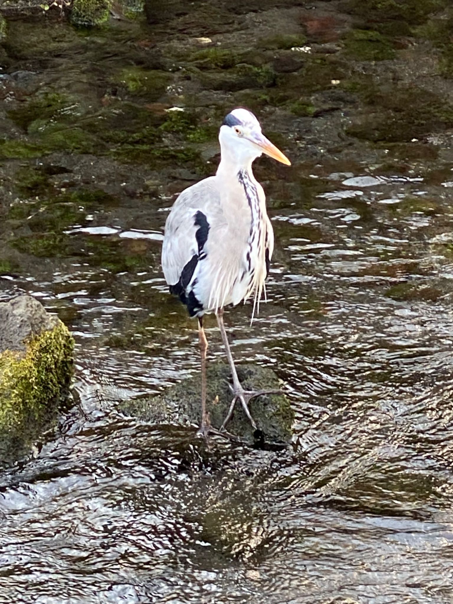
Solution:
[(259, 121), (248, 109), (233, 109), (225, 117), (220, 126), (219, 141), (222, 154), (228, 153), (238, 163), (247, 164), (266, 153), (282, 164), (291, 165), (280, 149), (263, 135)]

